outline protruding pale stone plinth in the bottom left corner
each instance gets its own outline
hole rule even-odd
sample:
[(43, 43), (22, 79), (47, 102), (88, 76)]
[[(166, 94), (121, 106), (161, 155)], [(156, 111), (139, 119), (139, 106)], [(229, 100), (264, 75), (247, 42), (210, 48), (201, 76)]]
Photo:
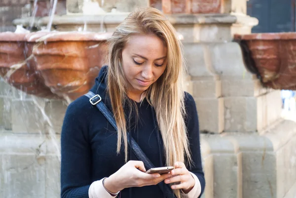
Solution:
[(41, 134), (0, 132), (0, 197), (59, 198), (60, 161)]

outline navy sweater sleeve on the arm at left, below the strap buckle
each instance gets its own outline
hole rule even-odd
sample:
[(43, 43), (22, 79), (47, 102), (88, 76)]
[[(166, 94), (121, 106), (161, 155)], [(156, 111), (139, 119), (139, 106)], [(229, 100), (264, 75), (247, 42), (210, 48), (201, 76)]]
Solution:
[(91, 150), (87, 100), (78, 98), (66, 111), (61, 132), (61, 198), (88, 198)]

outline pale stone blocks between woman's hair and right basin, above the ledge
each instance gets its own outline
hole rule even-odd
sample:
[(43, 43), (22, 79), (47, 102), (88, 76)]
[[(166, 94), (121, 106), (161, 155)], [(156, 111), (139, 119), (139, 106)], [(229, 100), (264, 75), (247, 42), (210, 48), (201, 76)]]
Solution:
[(201, 130), (260, 131), (280, 118), (280, 91), (263, 88), (259, 79), (247, 71), (237, 43), (184, 45), (188, 73), (196, 87), (192, 95), (200, 113)]

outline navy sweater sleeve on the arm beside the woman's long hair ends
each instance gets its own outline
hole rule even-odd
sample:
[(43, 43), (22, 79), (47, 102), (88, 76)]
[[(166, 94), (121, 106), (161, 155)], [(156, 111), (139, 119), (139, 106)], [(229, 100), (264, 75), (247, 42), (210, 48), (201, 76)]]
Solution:
[(200, 195), (195, 198), (200, 198), (205, 189), (205, 177), (202, 169), (200, 139), (199, 139), (199, 124), (196, 105), (193, 97), (189, 93), (185, 93), (185, 108), (187, 111), (186, 127), (190, 144), (190, 152), (193, 163), (187, 169), (193, 173), (199, 180), (201, 186)]

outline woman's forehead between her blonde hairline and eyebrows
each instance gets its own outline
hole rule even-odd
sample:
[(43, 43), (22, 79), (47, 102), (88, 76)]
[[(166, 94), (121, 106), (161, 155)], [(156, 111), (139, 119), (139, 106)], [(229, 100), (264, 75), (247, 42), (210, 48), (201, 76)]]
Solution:
[(129, 53), (137, 53), (146, 57), (151, 56), (151, 58), (163, 57), (167, 53), (164, 42), (155, 35), (132, 35), (126, 42), (125, 49)]

